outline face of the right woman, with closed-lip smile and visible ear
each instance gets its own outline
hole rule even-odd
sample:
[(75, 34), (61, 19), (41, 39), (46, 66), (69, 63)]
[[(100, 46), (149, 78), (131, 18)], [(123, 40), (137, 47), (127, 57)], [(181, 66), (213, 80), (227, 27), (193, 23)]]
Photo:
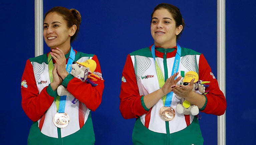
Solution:
[(158, 9), (152, 16), (151, 35), (158, 47), (172, 48), (176, 46), (176, 36), (182, 28), (182, 25), (176, 27), (176, 22), (167, 9)]

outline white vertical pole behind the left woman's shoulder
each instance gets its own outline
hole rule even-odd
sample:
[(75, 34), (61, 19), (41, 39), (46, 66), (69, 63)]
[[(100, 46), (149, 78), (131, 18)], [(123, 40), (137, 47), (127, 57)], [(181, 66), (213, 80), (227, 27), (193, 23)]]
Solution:
[(43, 0), (35, 0), (35, 57), (43, 54)]

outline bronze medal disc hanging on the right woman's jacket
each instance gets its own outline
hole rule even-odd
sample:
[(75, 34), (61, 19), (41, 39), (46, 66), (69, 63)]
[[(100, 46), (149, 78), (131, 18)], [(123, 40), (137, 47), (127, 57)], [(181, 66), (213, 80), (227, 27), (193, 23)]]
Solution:
[(175, 116), (175, 110), (172, 107), (161, 107), (159, 116), (164, 121), (171, 121)]

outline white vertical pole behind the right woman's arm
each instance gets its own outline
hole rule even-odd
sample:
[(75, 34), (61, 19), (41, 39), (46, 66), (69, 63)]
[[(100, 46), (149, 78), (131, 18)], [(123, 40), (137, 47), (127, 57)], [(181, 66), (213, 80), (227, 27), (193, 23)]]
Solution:
[[(217, 0), (217, 77), (219, 87), (226, 96), (225, 11), (225, 0)], [(226, 145), (226, 113), (217, 118), (218, 145)]]

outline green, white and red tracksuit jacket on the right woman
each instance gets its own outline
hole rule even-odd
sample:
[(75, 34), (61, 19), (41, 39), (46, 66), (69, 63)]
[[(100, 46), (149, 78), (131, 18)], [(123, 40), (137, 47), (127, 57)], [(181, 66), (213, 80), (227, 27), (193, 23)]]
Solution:
[[(152, 46), (152, 45), (151, 45)], [(164, 106), (160, 99), (152, 108), (147, 108), (143, 97), (159, 89), (155, 61), (151, 46), (128, 54), (122, 73), (120, 92), (120, 111), (125, 119), (136, 118), (132, 140), (134, 144), (203, 144), (198, 118), (193, 115), (178, 114), (171, 121), (163, 121), (159, 110)], [(165, 80), (171, 77), (174, 64), (175, 48), (155, 48), (155, 59)], [(206, 103), (200, 110), (214, 115), (222, 115), (226, 109), (226, 99), (219, 89), (209, 64), (203, 54), (192, 49), (181, 47), (178, 76), (181, 72), (195, 71), (199, 80), (210, 81), (210, 90), (206, 95)], [(178, 77), (177, 76), (177, 77)], [(183, 78), (182, 78), (183, 79)], [(177, 85), (180, 84), (180, 81)], [(172, 97), (171, 107), (181, 100)]]

